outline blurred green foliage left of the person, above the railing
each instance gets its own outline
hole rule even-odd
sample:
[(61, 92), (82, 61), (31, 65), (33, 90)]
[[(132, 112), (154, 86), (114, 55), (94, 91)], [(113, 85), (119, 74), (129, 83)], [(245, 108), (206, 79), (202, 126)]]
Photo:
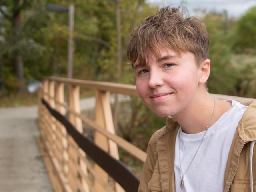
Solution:
[[(20, 0), (20, 4), (22, 4)], [(20, 52), (23, 57), (25, 78), (40, 80), (44, 75), (66, 76), (68, 14), (46, 10), (48, 3), (68, 6), (75, 4), (74, 24), (74, 78), (88, 80), (116, 80), (116, 16), (115, 2), (108, 0), (31, 0), (21, 10), (20, 40), (13, 39), (12, 23), (0, 16), (0, 58), (4, 66), (10, 66), (11, 75), (15, 76), (12, 64), (13, 56)], [(2, 1), (0, 8), (11, 14), (13, 1)], [(147, 16), (156, 7), (150, 7), (144, 0), (122, 1), (122, 42), (123, 60), (126, 62), (126, 46), (130, 30), (141, 18)], [(134, 83), (130, 66), (124, 64), (121, 82)], [(127, 75), (126, 75), (127, 74)], [(3, 76), (7, 82), (7, 75)], [(13, 78), (15, 79), (15, 78)], [(15, 80), (14, 80), (15, 81)], [(9, 86), (6, 86), (8, 89)]]

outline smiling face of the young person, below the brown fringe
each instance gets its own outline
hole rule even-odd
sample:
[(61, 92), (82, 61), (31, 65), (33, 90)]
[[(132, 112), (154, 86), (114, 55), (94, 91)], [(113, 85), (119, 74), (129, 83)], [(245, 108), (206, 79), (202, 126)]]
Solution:
[[(159, 49), (160, 58), (148, 55), (146, 65), (133, 64), (136, 87), (142, 101), (158, 116), (175, 115), (186, 109), (198, 91), (202, 70), (194, 54)], [(210, 61), (210, 60), (209, 60)]]

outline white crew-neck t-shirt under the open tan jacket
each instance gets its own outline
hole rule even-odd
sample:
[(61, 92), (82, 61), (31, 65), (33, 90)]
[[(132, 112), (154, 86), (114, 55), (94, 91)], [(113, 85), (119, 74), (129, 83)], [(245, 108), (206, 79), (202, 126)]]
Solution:
[[(178, 130), (174, 162), (176, 192), (223, 191), (230, 146), (238, 123), (247, 108), (247, 106), (234, 100), (228, 100), (228, 102), (232, 102), (232, 108), (208, 129), (204, 141), (189, 168), (188, 166), (202, 141), (205, 131), (197, 134), (186, 134), (182, 132), (181, 128)], [(182, 179), (180, 158), (183, 174), (188, 168), (183, 179), (183, 190), (180, 188)]]

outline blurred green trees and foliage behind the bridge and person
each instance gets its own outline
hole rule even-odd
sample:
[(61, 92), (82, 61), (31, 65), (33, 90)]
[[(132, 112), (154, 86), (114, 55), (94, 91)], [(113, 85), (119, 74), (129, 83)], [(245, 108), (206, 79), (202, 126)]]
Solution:
[[(135, 84), (126, 47), (131, 30), (156, 12), (155, 5), (146, 0), (0, 0), (0, 95), (22, 92), (43, 76), (66, 76), (68, 14), (48, 11), (49, 3), (75, 5), (74, 78)], [(209, 91), (256, 98), (256, 7), (240, 18), (197, 11), (210, 36)], [(127, 140), (143, 137), (148, 123), (164, 124), (136, 99), (124, 109), (131, 115), (120, 115), (118, 126)]]

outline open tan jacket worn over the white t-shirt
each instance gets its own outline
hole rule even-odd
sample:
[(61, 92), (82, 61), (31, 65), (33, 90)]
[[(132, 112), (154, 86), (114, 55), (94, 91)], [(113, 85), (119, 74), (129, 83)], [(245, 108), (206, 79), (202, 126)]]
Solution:
[[(250, 105), (238, 124), (230, 148), (224, 192), (256, 192), (256, 102), (243, 104)], [(175, 191), (174, 149), (178, 128), (179, 124), (168, 117), (166, 126), (150, 138), (138, 192)]]

